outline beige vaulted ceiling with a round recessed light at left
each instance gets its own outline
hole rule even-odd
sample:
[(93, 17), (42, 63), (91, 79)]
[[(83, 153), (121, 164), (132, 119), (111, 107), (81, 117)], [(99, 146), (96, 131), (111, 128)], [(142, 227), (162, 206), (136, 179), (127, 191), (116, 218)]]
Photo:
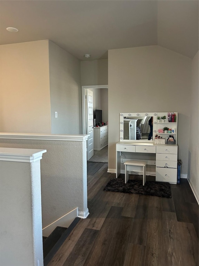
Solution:
[[(16, 27), (18, 32), (8, 32)], [(0, 44), (49, 39), (80, 60), (109, 49), (160, 45), (193, 58), (197, 0), (1, 0)]]

